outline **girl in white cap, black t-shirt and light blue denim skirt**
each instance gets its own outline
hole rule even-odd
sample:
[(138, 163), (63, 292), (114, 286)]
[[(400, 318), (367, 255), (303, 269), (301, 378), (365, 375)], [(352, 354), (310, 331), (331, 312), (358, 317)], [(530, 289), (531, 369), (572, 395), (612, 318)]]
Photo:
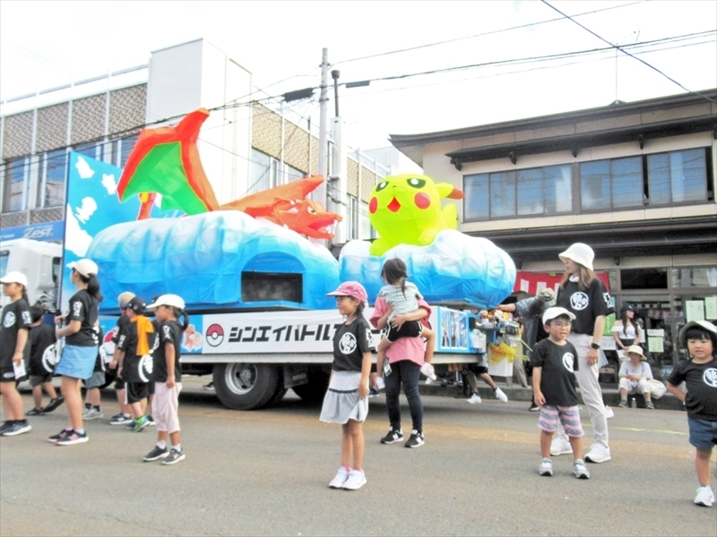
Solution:
[(102, 302), (99, 293), (98, 268), (93, 260), (79, 260), (70, 265), (70, 280), (77, 293), (70, 298), (70, 311), (66, 316), (56, 317), (57, 339), (65, 337), (62, 357), (55, 372), (62, 375), (60, 389), (65, 396), (69, 423), (64, 430), (51, 436), (48, 441), (57, 446), (73, 446), (88, 440), (82, 423), (82, 379), (89, 379), (94, 370), (99, 346), (98, 304)]

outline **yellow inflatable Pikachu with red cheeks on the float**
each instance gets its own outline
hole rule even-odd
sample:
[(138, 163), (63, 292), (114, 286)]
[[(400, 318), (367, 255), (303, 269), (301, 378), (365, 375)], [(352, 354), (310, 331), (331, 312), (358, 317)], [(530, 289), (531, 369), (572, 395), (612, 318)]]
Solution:
[(369, 253), (381, 256), (399, 244), (427, 246), (444, 229), (458, 227), (453, 203), (441, 208), (441, 199), (462, 200), (463, 192), (449, 183), (434, 183), (428, 175), (392, 175), (376, 184), (368, 201), (368, 219), (380, 238)]

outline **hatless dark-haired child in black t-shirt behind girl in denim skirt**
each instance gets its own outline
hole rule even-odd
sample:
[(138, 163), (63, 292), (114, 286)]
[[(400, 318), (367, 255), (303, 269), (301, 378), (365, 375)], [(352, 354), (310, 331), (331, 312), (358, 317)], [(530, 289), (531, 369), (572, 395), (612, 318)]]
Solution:
[[(57, 396), (52, 385), (52, 373), (55, 371), (56, 355), (55, 329), (42, 324), (42, 308), (30, 307), (32, 328), (30, 329), (30, 386), (35, 408), (30, 410), (29, 416), (41, 416), (50, 413), (65, 401), (65, 397)], [(42, 390), (50, 396), (50, 402), (42, 407)]]

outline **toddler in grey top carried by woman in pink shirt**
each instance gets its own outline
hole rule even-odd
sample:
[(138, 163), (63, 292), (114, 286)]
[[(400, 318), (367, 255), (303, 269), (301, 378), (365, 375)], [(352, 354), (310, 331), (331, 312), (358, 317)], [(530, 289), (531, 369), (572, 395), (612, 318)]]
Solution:
[(420, 372), (431, 380), (436, 380), (436, 373), (431, 365), (436, 333), (426, 328), (419, 320), (404, 322), (400, 328), (394, 328), (392, 320), (399, 314), (413, 313), (419, 310), (419, 299), (423, 296), (419, 288), (406, 281), (408, 277), (406, 263), (399, 259), (387, 260), (381, 270), (381, 277), (388, 285), (381, 287), (378, 296), (383, 296), (390, 308), (386, 333), (376, 347), (376, 370), (383, 371), (386, 350), (399, 337), (425, 337), (426, 355)]

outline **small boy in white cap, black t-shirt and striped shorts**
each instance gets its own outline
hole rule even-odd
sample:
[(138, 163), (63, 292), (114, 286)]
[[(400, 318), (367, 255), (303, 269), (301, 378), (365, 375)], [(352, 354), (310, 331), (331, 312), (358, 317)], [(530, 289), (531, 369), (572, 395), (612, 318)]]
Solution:
[(590, 479), (590, 473), (583, 463), (581, 438), (585, 433), (580, 423), (574, 384), (574, 371), (578, 367), (577, 351), (574, 345), (567, 341), (570, 321), (574, 319), (574, 314), (565, 308), (548, 308), (543, 313), (543, 325), (548, 332), (548, 339), (535, 345), (531, 354), (532, 388), (535, 404), (540, 406), (538, 427), (540, 452), (543, 456), (538, 473), (553, 474), (550, 443), (559, 420), (573, 448), (575, 477)]

